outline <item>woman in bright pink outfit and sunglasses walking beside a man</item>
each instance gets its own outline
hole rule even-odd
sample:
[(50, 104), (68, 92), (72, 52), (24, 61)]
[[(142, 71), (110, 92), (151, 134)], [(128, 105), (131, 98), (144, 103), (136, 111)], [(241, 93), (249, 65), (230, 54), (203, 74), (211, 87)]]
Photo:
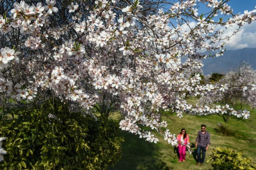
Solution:
[(179, 162), (183, 161), (185, 162), (185, 155), (186, 155), (186, 144), (190, 142), (190, 138), (188, 137), (186, 130), (183, 128), (180, 131), (180, 134), (177, 137), (178, 144), (179, 144), (179, 154), (180, 154), (180, 159)]

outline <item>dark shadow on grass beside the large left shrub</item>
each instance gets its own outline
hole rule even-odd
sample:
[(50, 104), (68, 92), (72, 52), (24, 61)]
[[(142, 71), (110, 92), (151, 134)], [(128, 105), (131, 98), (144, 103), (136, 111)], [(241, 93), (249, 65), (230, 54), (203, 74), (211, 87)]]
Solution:
[(121, 131), (125, 142), (122, 144), (122, 158), (109, 170), (174, 170), (159, 159), (158, 147), (140, 139), (138, 135)]

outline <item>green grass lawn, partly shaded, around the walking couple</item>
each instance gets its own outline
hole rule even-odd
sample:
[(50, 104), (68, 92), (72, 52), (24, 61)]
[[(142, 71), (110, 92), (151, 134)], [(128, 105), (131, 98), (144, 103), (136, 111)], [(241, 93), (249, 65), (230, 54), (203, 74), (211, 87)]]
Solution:
[[(117, 114), (114, 119), (118, 119)], [(209, 170), (211, 163), (206, 163), (214, 147), (229, 147), (236, 151), (242, 150), (244, 157), (251, 157), (256, 162), (256, 110), (251, 112), (251, 118), (247, 120), (231, 117), (226, 123), (222, 116), (190, 116), (184, 115), (182, 119), (176, 114), (165, 113), (162, 120), (167, 121), (172, 133), (178, 134), (181, 128), (185, 128), (190, 143), (194, 143), (201, 124), (206, 124), (207, 131), (211, 135), (211, 146), (206, 151), (204, 166), (196, 166), (193, 155), (186, 155), (185, 163), (178, 163), (178, 156), (162, 137), (159, 143), (145, 142), (138, 135), (120, 132), (125, 142), (122, 145), (123, 157), (109, 170)], [(223, 136), (216, 132), (217, 123), (222, 123), (234, 132), (234, 136)]]

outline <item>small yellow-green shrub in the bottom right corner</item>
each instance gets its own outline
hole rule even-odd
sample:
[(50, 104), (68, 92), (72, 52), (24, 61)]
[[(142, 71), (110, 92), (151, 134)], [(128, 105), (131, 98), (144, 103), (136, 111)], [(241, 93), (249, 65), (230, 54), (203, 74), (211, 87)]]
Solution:
[(229, 148), (216, 147), (207, 162), (211, 160), (213, 170), (256, 170), (251, 158), (242, 158), (242, 151), (237, 152)]

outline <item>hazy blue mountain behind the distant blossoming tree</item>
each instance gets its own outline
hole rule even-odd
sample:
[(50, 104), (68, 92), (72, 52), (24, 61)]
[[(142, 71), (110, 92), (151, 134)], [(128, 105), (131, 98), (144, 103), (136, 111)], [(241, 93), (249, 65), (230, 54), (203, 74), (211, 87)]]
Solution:
[(213, 72), (227, 73), (235, 70), (243, 61), (249, 63), (252, 68), (256, 69), (256, 48), (227, 50), (223, 53), (223, 56), (205, 58), (203, 59), (203, 72), (204, 75)]

